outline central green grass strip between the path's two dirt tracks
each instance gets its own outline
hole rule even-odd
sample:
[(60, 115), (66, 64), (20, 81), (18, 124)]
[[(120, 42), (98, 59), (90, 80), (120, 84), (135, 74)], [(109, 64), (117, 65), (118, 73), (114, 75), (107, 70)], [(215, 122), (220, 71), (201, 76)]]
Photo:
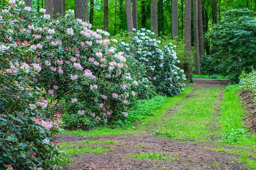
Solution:
[(176, 113), (155, 116), (154, 119), (143, 121), (137, 129), (153, 130), (158, 136), (174, 137), (175, 139), (209, 140), (215, 135), (218, 116), (215, 115), (215, 104), (218, 103), (219, 88), (201, 89), (177, 105)]

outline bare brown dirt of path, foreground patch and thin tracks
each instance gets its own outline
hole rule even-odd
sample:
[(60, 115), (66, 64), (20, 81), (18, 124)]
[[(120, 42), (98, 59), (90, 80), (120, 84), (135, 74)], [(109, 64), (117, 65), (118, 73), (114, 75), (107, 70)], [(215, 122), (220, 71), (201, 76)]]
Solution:
[[(175, 114), (174, 111), (196, 94), (202, 88), (224, 89), (226, 82), (217, 85), (214, 80), (195, 80), (197, 85), (193, 85), (194, 91), (170, 108), (166, 113)], [(222, 92), (222, 91), (221, 91)], [(220, 93), (218, 99), (222, 98)], [(220, 105), (220, 102), (215, 105)], [(218, 112), (218, 107), (216, 112)], [(215, 127), (212, 127), (215, 128)], [(83, 153), (74, 155), (73, 161), (64, 167), (64, 170), (243, 170), (244, 164), (238, 163), (237, 155), (216, 152), (218, 147), (216, 142), (195, 142), (191, 139), (172, 139), (152, 135), (145, 131), (143, 136), (101, 136), (101, 137), (81, 137), (74, 135), (58, 135), (58, 140), (70, 141), (72, 144), (79, 144), (81, 141), (99, 141), (96, 145), (88, 147), (105, 147), (107, 152)], [(212, 138), (212, 140), (218, 140)], [(114, 144), (101, 144), (100, 141), (114, 141)], [(69, 143), (69, 142), (68, 142)], [(80, 146), (80, 145), (79, 145)], [(80, 146), (81, 147), (81, 146)], [(158, 157), (154, 159), (137, 159), (134, 154), (146, 155), (153, 153)]]

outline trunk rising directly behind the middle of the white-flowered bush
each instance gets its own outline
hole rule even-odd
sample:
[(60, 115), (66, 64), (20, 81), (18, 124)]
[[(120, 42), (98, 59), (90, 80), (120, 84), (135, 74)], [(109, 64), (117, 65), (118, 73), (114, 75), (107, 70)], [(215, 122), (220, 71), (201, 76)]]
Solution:
[(157, 16), (157, 0), (150, 0), (150, 12), (151, 12), (151, 31), (153, 31), (156, 36), (158, 35), (158, 16)]

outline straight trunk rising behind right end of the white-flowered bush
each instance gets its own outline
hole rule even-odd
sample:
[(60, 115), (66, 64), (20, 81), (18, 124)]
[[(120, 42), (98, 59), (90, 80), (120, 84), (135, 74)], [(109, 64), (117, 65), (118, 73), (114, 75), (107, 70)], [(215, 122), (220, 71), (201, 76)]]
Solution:
[(172, 0), (172, 39), (178, 36), (178, 0)]

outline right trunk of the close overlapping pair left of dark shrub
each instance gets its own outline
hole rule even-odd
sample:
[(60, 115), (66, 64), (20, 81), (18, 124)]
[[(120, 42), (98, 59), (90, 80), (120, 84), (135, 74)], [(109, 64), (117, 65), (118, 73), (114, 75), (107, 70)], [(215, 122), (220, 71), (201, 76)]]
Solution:
[(198, 38), (199, 38), (199, 56), (204, 56), (204, 28), (202, 16), (202, 1), (198, 0)]

